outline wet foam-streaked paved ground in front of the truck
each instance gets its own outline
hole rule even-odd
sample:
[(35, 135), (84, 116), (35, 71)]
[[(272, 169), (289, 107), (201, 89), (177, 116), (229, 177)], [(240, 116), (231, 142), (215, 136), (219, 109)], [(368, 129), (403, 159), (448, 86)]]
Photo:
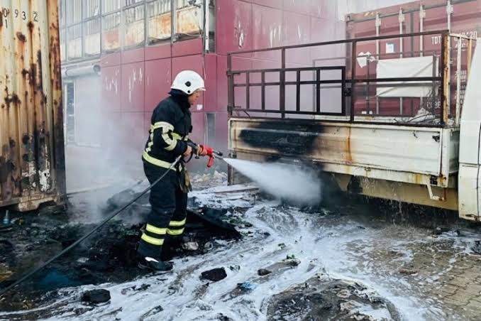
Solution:
[[(0, 308), (0, 320), (481, 319), (476, 225), (446, 212), (356, 199), (299, 209), (254, 187), (233, 189), (192, 192), (190, 205), (224, 209), (216, 213), (242, 238), (212, 236), (202, 251), (175, 256), (170, 273), (57, 288), (30, 308)], [(225, 278), (201, 277), (216, 268)], [(109, 290), (110, 300), (82, 302), (95, 289)]]

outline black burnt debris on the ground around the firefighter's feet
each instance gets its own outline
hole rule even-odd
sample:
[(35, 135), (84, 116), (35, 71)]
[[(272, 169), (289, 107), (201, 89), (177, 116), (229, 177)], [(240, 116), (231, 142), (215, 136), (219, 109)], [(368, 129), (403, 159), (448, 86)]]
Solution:
[[(109, 202), (111, 214), (123, 204), (120, 200), (131, 200), (134, 192), (123, 192), (123, 197), (113, 197)], [(137, 246), (140, 239), (143, 219), (149, 207), (145, 206), (148, 196), (141, 198), (128, 211), (82, 244), (61, 256), (57, 261), (36, 273), (31, 279), (11, 290), (0, 298), (0, 310), (26, 310), (55, 300), (60, 288), (84, 284), (106, 282), (122, 283), (132, 281), (145, 274), (137, 267)], [(78, 217), (79, 213), (35, 212), (31, 214), (11, 214), (12, 224), (1, 231), (0, 238), (0, 289), (6, 288), (40, 263), (47, 261), (77, 239), (96, 227), (95, 224), (69, 222), (68, 217)], [(195, 256), (212, 251), (216, 239), (238, 239), (240, 234), (233, 225), (223, 222), (226, 211), (204, 209), (203, 212), (189, 210), (184, 234), (167, 239), (163, 259)], [(98, 219), (98, 217), (97, 217)], [(197, 242), (195, 251), (182, 248), (186, 241)], [(35, 317), (48, 317), (35, 316)]]

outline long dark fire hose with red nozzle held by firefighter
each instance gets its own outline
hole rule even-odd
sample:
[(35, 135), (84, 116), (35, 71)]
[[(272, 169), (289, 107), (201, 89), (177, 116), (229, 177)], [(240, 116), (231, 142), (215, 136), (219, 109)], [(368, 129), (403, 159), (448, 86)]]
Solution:
[[(190, 143), (189, 143), (190, 144)], [(223, 159), (222, 158), (222, 153), (219, 152), (219, 151), (214, 151), (212, 148), (210, 148), (209, 146), (202, 146), (202, 145), (199, 145), (201, 146), (201, 148), (205, 148), (205, 151), (206, 151), (206, 156), (209, 157), (209, 160), (207, 161), (207, 167), (211, 167), (213, 164), (214, 164), (214, 158), (218, 158), (218, 159)], [(192, 158), (192, 156), (194, 155), (194, 151), (197, 151), (197, 148), (198, 146), (195, 145), (195, 148), (192, 148), (192, 154), (189, 158), (189, 160)], [(198, 155), (195, 156), (195, 158), (199, 158)], [(74, 241), (74, 243), (70, 244), (70, 246), (67, 246), (67, 248), (63, 249), (62, 251), (60, 251), (60, 253), (56, 254), (55, 256), (52, 257), (52, 259), (46, 261), (45, 263), (43, 263), (42, 266), (39, 266), (38, 268), (34, 268), (32, 271), (28, 272), (26, 275), (22, 276), (21, 278), (19, 278), (17, 281), (15, 281), (14, 283), (12, 283), (11, 285), (7, 286), (6, 288), (4, 288), (3, 290), (0, 290), (0, 297), (3, 296), (5, 293), (7, 293), (9, 290), (15, 288), (17, 285), (19, 285), (20, 283), (23, 283), (23, 281), (26, 281), (28, 278), (30, 278), (31, 276), (33, 276), (35, 273), (37, 273), (38, 271), (42, 270), (43, 268), (45, 268), (45, 266), (48, 266), (50, 263), (52, 263), (53, 261), (55, 261), (56, 259), (60, 258), (60, 256), (64, 255), (65, 253), (67, 253), (68, 251), (70, 251), (71, 249), (73, 249), (75, 246), (77, 246), (78, 244), (82, 243), (82, 241), (84, 241), (85, 239), (87, 239), (89, 236), (91, 236), (92, 234), (94, 234), (95, 232), (97, 232), (101, 227), (103, 227), (107, 222), (109, 222), (111, 219), (113, 219), (114, 217), (116, 217), (119, 213), (121, 213), (123, 210), (125, 210), (127, 207), (131, 206), (134, 202), (136, 202), (140, 197), (142, 197), (143, 195), (145, 195), (146, 192), (150, 191), (152, 189), (152, 187), (154, 187), (155, 185), (157, 185), (157, 183), (159, 183), (163, 178), (165, 178), (165, 175), (167, 175), (167, 173), (169, 173), (169, 170), (172, 170), (172, 168), (175, 168), (175, 165), (177, 165), (177, 163), (179, 163), (179, 161), (182, 160), (182, 155), (181, 156), (178, 156), (177, 158), (175, 158), (175, 161), (170, 165), (170, 167), (168, 168), (168, 170), (165, 171), (164, 174), (162, 174), (160, 176), (160, 178), (157, 178), (157, 180), (155, 180), (149, 187), (145, 188), (145, 190), (143, 190), (142, 192), (140, 192), (140, 194), (138, 196), (136, 196), (133, 200), (131, 200), (131, 202), (128, 202), (126, 205), (124, 205), (123, 207), (121, 207), (120, 210), (116, 211), (114, 214), (111, 214), (109, 217), (107, 217), (106, 219), (104, 219), (103, 222), (101, 222), (101, 224), (99, 224), (98, 226), (94, 227), (94, 229), (92, 229), (90, 232), (88, 232), (87, 234), (85, 234), (84, 236), (82, 236), (80, 239), (77, 239), (77, 241)], [(187, 160), (187, 162), (189, 161)], [(186, 163), (187, 163), (186, 162)]]

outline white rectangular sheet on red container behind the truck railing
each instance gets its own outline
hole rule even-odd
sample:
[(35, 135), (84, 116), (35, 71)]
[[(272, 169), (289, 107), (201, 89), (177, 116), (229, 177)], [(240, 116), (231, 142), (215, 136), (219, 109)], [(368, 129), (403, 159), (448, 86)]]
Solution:
[[(433, 57), (383, 59), (377, 61), (377, 78), (433, 77)], [(436, 75), (438, 69), (436, 66)], [(419, 84), (413, 87), (377, 87), (378, 97), (427, 97), (433, 88), (432, 82), (377, 82), (385, 84)]]

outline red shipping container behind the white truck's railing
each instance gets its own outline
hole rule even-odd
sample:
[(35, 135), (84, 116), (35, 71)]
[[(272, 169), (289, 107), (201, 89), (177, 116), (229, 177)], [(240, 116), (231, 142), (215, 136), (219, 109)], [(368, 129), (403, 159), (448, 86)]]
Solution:
[[(470, 38), (481, 35), (481, 1), (480, 0), (421, 0), (407, 2), (398, 6), (350, 14), (346, 17), (346, 38), (365, 38), (388, 36), (423, 31), (448, 30)], [(475, 45), (476, 42), (472, 43)], [(460, 73), (460, 104), (463, 104), (464, 88), (468, 66), (468, 40), (462, 41), (460, 70), (457, 68), (457, 43), (450, 43), (450, 113), (456, 109), (456, 79)], [(350, 53), (349, 53), (350, 55)], [(366, 59), (360, 56), (369, 55)], [(433, 57), (437, 61), (441, 56), (441, 36), (417, 36), (360, 43), (356, 50), (358, 64), (356, 75), (374, 79), (377, 77), (377, 62), (395, 58)], [(434, 66), (438, 63), (433, 64)], [(433, 70), (433, 74), (436, 71)], [(361, 88), (359, 88), (361, 89)], [(369, 92), (369, 94), (367, 94)], [(394, 97), (376, 97), (377, 88), (358, 90), (355, 111), (357, 114), (384, 114), (396, 116), (416, 114), (423, 106), (419, 98), (397, 99)], [(438, 108), (438, 106), (436, 106)]]

